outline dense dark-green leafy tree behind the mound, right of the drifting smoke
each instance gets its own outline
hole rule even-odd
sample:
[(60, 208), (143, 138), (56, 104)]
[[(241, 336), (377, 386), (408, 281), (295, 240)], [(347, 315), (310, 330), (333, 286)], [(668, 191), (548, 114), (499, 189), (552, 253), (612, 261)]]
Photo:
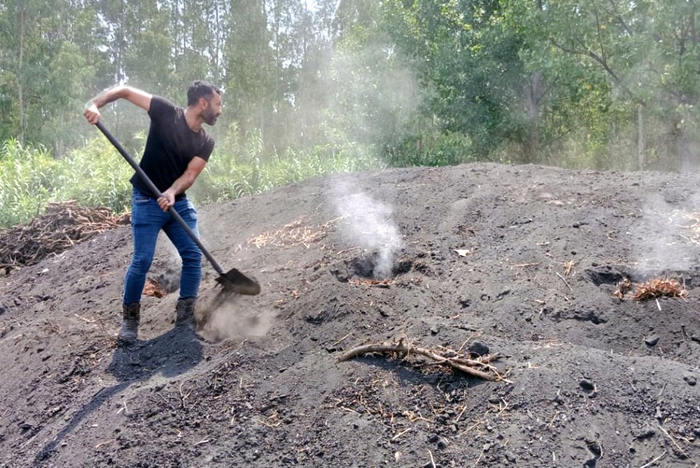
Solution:
[[(479, 159), (532, 139), (523, 92), (532, 78), (519, 57), (522, 39), (503, 27), (498, 0), (386, 0), (384, 17), (418, 73), (423, 112), (439, 132), (467, 137)], [(531, 147), (518, 160), (533, 159)]]

